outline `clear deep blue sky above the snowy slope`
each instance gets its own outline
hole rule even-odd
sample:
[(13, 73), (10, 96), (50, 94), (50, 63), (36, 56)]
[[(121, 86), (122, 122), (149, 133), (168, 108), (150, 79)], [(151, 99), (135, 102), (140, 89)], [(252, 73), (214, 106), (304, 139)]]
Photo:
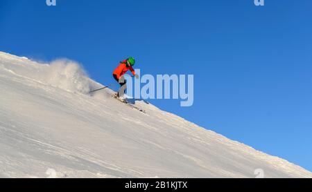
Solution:
[(0, 1), (0, 50), (66, 57), (102, 84), (121, 59), (193, 74), (194, 105), (159, 108), (312, 171), (312, 1)]

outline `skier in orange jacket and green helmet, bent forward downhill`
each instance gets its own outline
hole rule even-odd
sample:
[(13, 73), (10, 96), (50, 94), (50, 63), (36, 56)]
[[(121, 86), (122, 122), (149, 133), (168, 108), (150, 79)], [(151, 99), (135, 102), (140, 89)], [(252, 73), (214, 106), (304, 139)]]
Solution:
[[(123, 75), (130, 70), (131, 73), (135, 76), (135, 78), (139, 78), (139, 75), (135, 73), (135, 70), (132, 68), (132, 66), (135, 65), (135, 58), (129, 57), (128, 59), (125, 59), (120, 62), (119, 66), (113, 71), (113, 77), (114, 79), (120, 84), (120, 88), (118, 93), (115, 95), (115, 97), (122, 97), (125, 93), (125, 89), (127, 88), (125, 81), (125, 77)], [(124, 88), (124, 90), (122, 90)], [(121, 92), (122, 95), (119, 95), (119, 92)]]

